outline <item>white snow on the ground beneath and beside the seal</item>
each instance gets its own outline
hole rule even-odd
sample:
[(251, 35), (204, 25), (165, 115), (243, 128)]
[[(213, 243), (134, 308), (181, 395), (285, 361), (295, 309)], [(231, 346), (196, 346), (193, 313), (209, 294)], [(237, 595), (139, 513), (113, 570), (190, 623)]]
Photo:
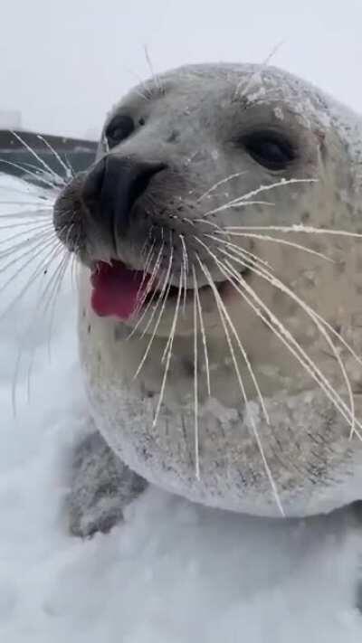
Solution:
[[(1, 200), (5, 186), (14, 199), (6, 179)], [(19, 289), (0, 290), (0, 314)], [(71, 279), (59, 294), (50, 358), (47, 324), (31, 323), (38, 307), (35, 289), (0, 317), (0, 640), (359, 643), (362, 539), (342, 515), (272, 522), (150, 488), (110, 534), (68, 534), (71, 449), (87, 430)], [(14, 415), (24, 321), (25, 347), (38, 349), (29, 401), (22, 360)]]

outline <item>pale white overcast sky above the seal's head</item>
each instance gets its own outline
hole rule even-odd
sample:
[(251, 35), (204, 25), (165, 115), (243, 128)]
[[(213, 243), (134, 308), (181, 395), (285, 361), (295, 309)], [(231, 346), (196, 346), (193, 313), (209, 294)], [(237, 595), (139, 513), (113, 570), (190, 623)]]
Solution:
[(0, 0), (0, 109), (26, 128), (83, 136), (156, 71), (262, 61), (362, 112), (362, 0)]

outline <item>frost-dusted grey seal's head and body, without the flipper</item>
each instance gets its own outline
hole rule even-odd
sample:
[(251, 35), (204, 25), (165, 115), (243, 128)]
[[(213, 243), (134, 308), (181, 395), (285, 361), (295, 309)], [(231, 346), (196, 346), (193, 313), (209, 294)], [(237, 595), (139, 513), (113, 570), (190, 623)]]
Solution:
[(361, 118), (272, 67), (182, 67), (111, 109), (53, 221), (131, 471), (254, 515), (360, 498), (361, 160)]

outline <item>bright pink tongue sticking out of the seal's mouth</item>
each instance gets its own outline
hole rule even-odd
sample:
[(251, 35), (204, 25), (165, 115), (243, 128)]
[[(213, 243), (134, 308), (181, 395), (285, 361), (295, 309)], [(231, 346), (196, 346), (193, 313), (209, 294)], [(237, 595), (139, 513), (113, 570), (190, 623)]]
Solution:
[(129, 319), (135, 312), (139, 298), (147, 287), (149, 278), (143, 279), (142, 270), (129, 270), (121, 261), (110, 266), (99, 261), (91, 275), (91, 306), (100, 317), (115, 316)]

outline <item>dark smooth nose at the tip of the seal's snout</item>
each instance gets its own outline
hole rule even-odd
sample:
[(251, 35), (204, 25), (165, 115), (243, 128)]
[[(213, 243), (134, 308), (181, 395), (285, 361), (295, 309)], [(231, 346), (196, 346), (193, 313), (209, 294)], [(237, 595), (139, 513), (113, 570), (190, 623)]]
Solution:
[(164, 169), (164, 163), (104, 156), (85, 179), (82, 199), (93, 218), (122, 230), (129, 225), (133, 204), (145, 193), (151, 178)]

